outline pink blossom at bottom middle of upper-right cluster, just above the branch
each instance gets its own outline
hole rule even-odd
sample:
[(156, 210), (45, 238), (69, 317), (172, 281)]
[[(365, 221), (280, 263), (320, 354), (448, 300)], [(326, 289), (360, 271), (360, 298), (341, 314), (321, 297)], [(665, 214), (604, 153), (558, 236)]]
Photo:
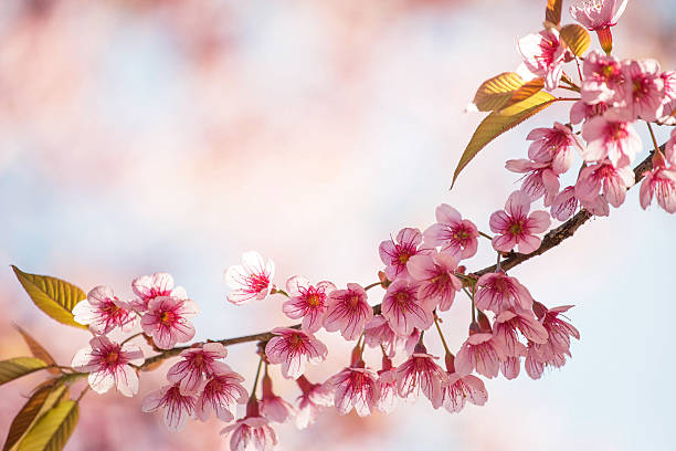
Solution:
[(617, 208), (624, 203), (626, 190), (634, 185), (634, 171), (631, 167), (615, 168), (610, 160), (605, 160), (582, 168), (575, 183), (575, 197), (590, 201), (602, 190), (605, 200)]

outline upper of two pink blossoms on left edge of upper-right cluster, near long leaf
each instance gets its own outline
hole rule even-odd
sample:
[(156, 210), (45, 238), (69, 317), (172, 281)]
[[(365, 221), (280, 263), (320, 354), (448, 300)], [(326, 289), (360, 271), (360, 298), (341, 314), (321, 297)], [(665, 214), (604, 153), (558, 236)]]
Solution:
[(536, 128), (526, 139), (532, 140), (528, 147), (528, 158), (536, 162), (551, 162), (551, 169), (557, 175), (570, 169), (575, 149), (582, 150), (582, 144), (572, 129), (559, 123), (551, 128)]

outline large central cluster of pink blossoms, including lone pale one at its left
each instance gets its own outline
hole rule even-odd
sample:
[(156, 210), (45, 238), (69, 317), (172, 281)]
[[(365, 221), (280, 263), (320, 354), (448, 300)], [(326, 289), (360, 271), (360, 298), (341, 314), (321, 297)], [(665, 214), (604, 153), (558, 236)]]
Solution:
[[(549, 216), (543, 211), (528, 214), (529, 207), (529, 198), (517, 191), (507, 201), (506, 211), (494, 213), (492, 227), (501, 232), (493, 239), (496, 250), (508, 252), (519, 247), (521, 252), (532, 252), (539, 247), (540, 239), (535, 234), (549, 227)], [(520, 224), (518, 231), (515, 224)], [(273, 337), (262, 350), (262, 399), (257, 401), (254, 386), (246, 415), (225, 429), (231, 433), (232, 449), (253, 445), (266, 450), (276, 443), (271, 422), (295, 418), (296, 426), (305, 428), (331, 406), (341, 415), (355, 410), (366, 417), (376, 410), (391, 412), (397, 399), (423, 395), (434, 409), (458, 412), (466, 402), (483, 406), (488, 400), (478, 376), (493, 378), (501, 373), (513, 379), (524, 363), (526, 373), (537, 379), (545, 367), (561, 367), (570, 356), (570, 337), (579, 338), (578, 331), (562, 317), (570, 306), (545, 307), (516, 279), (499, 270), (482, 276), (465, 274), (460, 263), (475, 255), (478, 237), (474, 222), (463, 219), (451, 206), (441, 204), (436, 223), (424, 232), (405, 228), (380, 244), (384, 264), (380, 282), (366, 287), (348, 283), (342, 290), (330, 282), (313, 284), (300, 276), (291, 277), (286, 291), (279, 290), (272, 280), (273, 262), (256, 252), (244, 253), (242, 264), (225, 273), (233, 290), (228, 295), (230, 302), (241, 305), (242, 298), (284, 295), (287, 300), (282, 311), (302, 322), (293, 328), (272, 331)], [(385, 289), (380, 308), (368, 302), (367, 291), (374, 286)], [(467, 339), (453, 354), (439, 315), (451, 310), (463, 289), (472, 290), (473, 321)], [(493, 314), (493, 321), (487, 314)], [(434, 325), (445, 349), (443, 367), (423, 343), (424, 333)], [(313, 384), (305, 375), (306, 364), (316, 365), (326, 358), (328, 349), (315, 336), (323, 328), (357, 343), (347, 367), (323, 384)], [(365, 361), (366, 346), (382, 350), (379, 366)], [(300, 389), (295, 407), (272, 389), (268, 365), (277, 364), (282, 376), (295, 379)]]

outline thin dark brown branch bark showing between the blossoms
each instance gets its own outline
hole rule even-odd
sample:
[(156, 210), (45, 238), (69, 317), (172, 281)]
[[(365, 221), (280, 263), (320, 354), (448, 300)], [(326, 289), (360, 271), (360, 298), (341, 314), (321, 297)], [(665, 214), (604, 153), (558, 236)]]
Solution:
[[(664, 151), (665, 145), (662, 145), (659, 147), (659, 149), (662, 151)], [(635, 185), (637, 185), (642, 179), (643, 179), (643, 174), (647, 170), (651, 170), (653, 167), (653, 155), (655, 154), (654, 150), (651, 151), (651, 154), (647, 156), (647, 158), (645, 158), (643, 161), (641, 161), (641, 164), (638, 164), (638, 166), (636, 166), (634, 168), (634, 176), (635, 176)], [(631, 189), (631, 187), (630, 187)], [(568, 221), (563, 222), (561, 226), (559, 226), (558, 228), (550, 230), (545, 238), (542, 239), (542, 243), (540, 244), (540, 247), (529, 253), (529, 254), (522, 254), (522, 253), (516, 253), (516, 252), (510, 252), (508, 254), (505, 255), (505, 259), (501, 260), (500, 262), (500, 269), (503, 271), (508, 271), (521, 263), (524, 263), (527, 260), (532, 259), (534, 256), (537, 255), (541, 255), (545, 252), (549, 251), (552, 248), (556, 248), (557, 245), (561, 244), (561, 242), (563, 242), (563, 240), (572, 237), (575, 231), (582, 226), (590, 218), (592, 217), (592, 214), (582, 209), (580, 210), (575, 216), (573, 216), (571, 219), (569, 219)], [(497, 264), (493, 264), (490, 266), (484, 268), (483, 270), (476, 271), (474, 273), (472, 273), (475, 276), (480, 276), (483, 274), (487, 274), (490, 272), (495, 272), (497, 270)], [(382, 285), (381, 282), (374, 282), (370, 285), (367, 285), (365, 287), (365, 290), (369, 290), (372, 289), (374, 286), (378, 285)], [(279, 291), (277, 291), (279, 292)], [(381, 304), (374, 305), (373, 306), (373, 314), (380, 314), (380, 310), (381, 310)], [(293, 326), (289, 326), (291, 328), (295, 328), (295, 329), (299, 329), (300, 328), (300, 324), (295, 324)], [(234, 338), (225, 338), (225, 339), (221, 339), (221, 340), (207, 340), (207, 343), (220, 343), (223, 346), (231, 346), (231, 345), (236, 345), (240, 343), (252, 343), (252, 342), (257, 342), (257, 343), (266, 343), (270, 339), (272, 339), (274, 337), (274, 334), (272, 332), (262, 332), (258, 334), (252, 334), (252, 335), (243, 335), (241, 337), (234, 337)], [(162, 350), (160, 354), (157, 354), (150, 358), (147, 358), (146, 361), (144, 363), (144, 365), (141, 365), (138, 369), (141, 371), (150, 371), (154, 370), (156, 368), (159, 367), (159, 365), (161, 365), (161, 363), (168, 358), (171, 357), (176, 357), (178, 356), (181, 352), (189, 349), (190, 347), (197, 345), (198, 343), (193, 344), (193, 345), (189, 345), (189, 346), (178, 346), (171, 349), (167, 349), (167, 350)]]

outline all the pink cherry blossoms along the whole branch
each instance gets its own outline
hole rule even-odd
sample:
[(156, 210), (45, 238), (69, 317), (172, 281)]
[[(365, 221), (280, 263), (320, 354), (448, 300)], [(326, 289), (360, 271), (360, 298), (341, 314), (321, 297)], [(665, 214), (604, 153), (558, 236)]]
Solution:
[[(620, 207), (635, 183), (632, 165), (642, 151), (634, 123), (676, 125), (676, 72), (662, 72), (652, 60), (621, 61), (611, 55), (610, 30), (625, 7), (626, 1), (613, 0), (584, 0), (571, 7), (572, 17), (598, 33), (605, 51), (587, 54), (581, 69), (578, 66), (579, 85), (566, 74), (564, 65), (579, 64), (582, 57), (566, 44), (558, 24), (547, 23), (546, 30), (519, 41), (528, 77), (541, 78), (548, 91), (562, 87), (579, 92), (580, 97), (574, 98), (569, 123), (534, 129), (527, 137), (532, 141), (528, 158), (507, 161), (508, 170), (525, 176), (505, 208), (490, 216), (494, 235), (479, 232), (456, 209), (441, 204), (436, 222), (424, 231), (404, 228), (380, 243), (380, 280), (366, 286), (348, 283), (339, 287), (296, 275), (283, 290), (273, 282), (273, 261), (245, 252), (241, 264), (225, 272), (232, 289), (228, 301), (244, 305), (285, 296), (279, 308), (299, 324), (262, 334), (251, 392), (242, 386), (244, 378), (221, 361), (228, 356), (225, 342), (197, 343), (180, 348), (179, 361), (167, 373), (168, 384), (145, 398), (142, 410), (162, 409), (167, 427), (175, 430), (189, 418), (204, 421), (213, 411), (230, 423), (222, 433), (230, 437), (233, 450), (265, 451), (277, 443), (271, 426), (275, 422), (293, 421), (304, 429), (330, 407), (341, 415), (355, 410), (360, 417), (389, 413), (398, 399), (421, 395), (434, 409), (460, 412), (467, 402), (487, 402), (482, 377), (501, 374), (514, 379), (524, 367), (530, 378), (538, 379), (546, 368), (563, 366), (571, 356), (571, 337), (580, 338), (564, 316), (571, 306), (548, 308), (534, 300), (521, 282), (500, 268), (500, 259), (538, 251), (552, 218), (566, 221), (581, 208), (608, 216), (609, 206)], [(573, 166), (575, 155), (582, 159), (577, 181), (561, 188), (560, 179)], [(664, 150), (655, 146), (653, 167), (642, 176), (641, 206), (645, 209), (656, 198), (664, 210), (676, 212), (676, 130)], [(531, 211), (539, 200), (549, 211)], [(490, 240), (498, 264), (472, 273), (463, 261), (477, 253), (482, 237)], [(117, 343), (109, 334), (131, 333), (140, 326), (142, 332), (137, 335), (142, 334), (159, 357), (167, 349), (178, 354), (176, 345), (194, 336), (189, 319), (197, 314), (197, 304), (183, 289), (173, 286), (169, 274), (138, 277), (131, 285), (133, 301), (123, 302), (110, 289), (98, 286), (73, 311), (75, 321), (88, 325), (94, 334), (89, 347), (76, 354), (73, 368), (87, 373), (97, 392), (113, 386), (125, 396), (138, 391), (137, 370), (144, 355), (128, 343), (136, 335)], [(378, 300), (368, 293), (374, 287), (384, 290)], [(466, 338), (454, 353), (444, 337), (441, 315), (452, 310), (461, 292), (468, 296), (472, 319)], [(424, 344), (430, 337), (426, 332), (433, 328), (443, 345), (443, 366), (439, 363), (442, 356), (430, 354)], [(329, 350), (316, 335), (324, 333), (339, 333), (356, 343), (345, 368), (323, 382), (311, 382), (306, 375), (308, 364), (321, 364)], [(381, 350), (379, 361), (365, 360), (367, 346)], [(298, 386), (295, 403), (273, 389), (270, 367), (276, 365), (282, 377)], [(237, 406), (242, 406), (240, 416)]]

